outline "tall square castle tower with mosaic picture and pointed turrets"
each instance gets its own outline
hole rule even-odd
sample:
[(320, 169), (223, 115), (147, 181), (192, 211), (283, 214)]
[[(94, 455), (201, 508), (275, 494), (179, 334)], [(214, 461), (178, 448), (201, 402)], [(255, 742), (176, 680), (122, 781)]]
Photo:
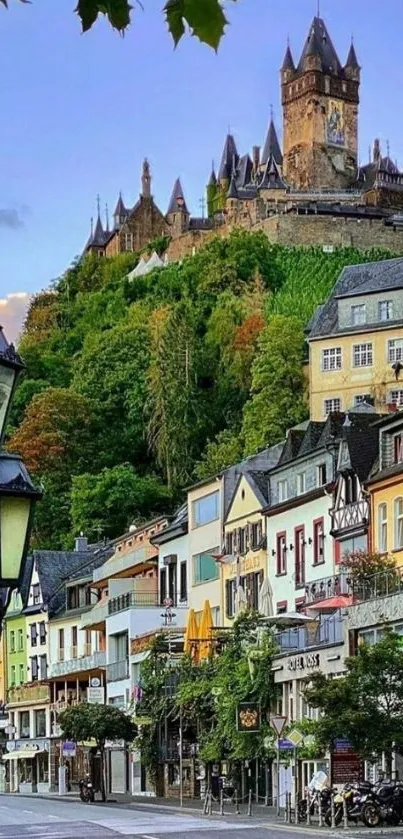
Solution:
[(347, 189), (357, 174), (360, 67), (343, 67), (322, 18), (313, 19), (297, 66), (281, 68), (283, 173), (297, 189)]

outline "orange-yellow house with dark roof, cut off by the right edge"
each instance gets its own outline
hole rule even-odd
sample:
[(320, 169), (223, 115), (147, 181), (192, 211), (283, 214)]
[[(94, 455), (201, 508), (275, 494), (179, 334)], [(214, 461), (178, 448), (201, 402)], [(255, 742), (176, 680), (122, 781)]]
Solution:
[(379, 471), (368, 481), (371, 547), (403, 565), (403, 411), (379, 423)]

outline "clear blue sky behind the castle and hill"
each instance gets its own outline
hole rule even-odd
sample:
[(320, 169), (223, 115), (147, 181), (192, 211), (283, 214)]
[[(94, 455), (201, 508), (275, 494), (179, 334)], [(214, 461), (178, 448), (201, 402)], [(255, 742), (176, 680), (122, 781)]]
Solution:
[[(133, 2), (123, 39), (104, 22), (81, 35), (75, 0), (0, 8), (0, 296), (34, 292), (63, 272), (88, 235), (98, 192), (111, 212), (119, 189), (134, 202), (144, 156), (161, 209), (180, 175), (196, 214), (228, 126), (240, 151), (262, 144), (273, 103), (281, 128), (287, 35), (298, 55), (316, 0), (228, 3), (218, 55), (189, 37), (174, 51), (163, 0), (143, 0), (144, 11)], [(361, 159), (379, 135), (403, 165), (402, 0), (387, 8), (321, 0), (321, 14), (342, 61), (354, 34)]]

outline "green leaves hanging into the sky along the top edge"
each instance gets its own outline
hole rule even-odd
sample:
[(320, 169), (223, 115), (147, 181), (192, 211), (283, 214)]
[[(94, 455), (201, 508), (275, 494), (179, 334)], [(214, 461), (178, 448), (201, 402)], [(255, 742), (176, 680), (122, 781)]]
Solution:
[[(8, 6), (8, 0), (0, 0), (0, 3)], [(138, 9), (141, 8), (139, 3)], [(124, 32), (131, 22), (132, 11), (129, 0), (78, 0), (76, 6), (84, 32), (91, 29), (100, 14), (105, 15), (118, 32)], [(175, 46), (187, 27), (200, 41), (217, 49), (227, 24), (220, 0), (203, 0), (202, 3), (200, 0), (167, 0), (164, 13)]]

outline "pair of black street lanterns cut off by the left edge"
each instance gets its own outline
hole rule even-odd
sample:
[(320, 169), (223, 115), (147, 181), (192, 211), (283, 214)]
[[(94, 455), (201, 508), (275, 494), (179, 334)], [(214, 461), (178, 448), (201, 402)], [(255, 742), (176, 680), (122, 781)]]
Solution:
[(24, 364), (0, 327), (0, 624), (11, 593), (24, 574), (35, 502), (42, 493), (18, 455), (1, 446), (15, 388)]

